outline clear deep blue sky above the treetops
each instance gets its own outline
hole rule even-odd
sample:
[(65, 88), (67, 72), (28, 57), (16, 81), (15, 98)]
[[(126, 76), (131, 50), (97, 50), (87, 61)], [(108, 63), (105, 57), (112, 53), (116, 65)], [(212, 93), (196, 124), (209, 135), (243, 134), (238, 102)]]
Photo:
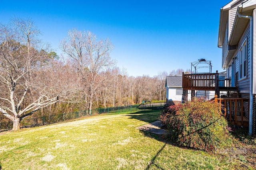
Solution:
[(230, 0), (1, 0), (0, 22), (31, 18), (42, 40), (58, 49), (72, 28), (90, 30), (114, 44), (110, 54), (130, 76), (184, 70), (200, 58), (222, 71), (217, 47), (220, 8)]

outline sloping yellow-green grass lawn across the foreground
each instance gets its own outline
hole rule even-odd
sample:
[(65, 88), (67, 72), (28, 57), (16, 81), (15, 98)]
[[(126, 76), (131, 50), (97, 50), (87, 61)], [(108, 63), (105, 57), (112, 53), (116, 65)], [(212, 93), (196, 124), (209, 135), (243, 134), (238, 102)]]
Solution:
[(2, 170), (253, 168), (255, 160), (248, 160), (246, 150), (233, 157), (225, 152), (209, 154), (165, 143), (156, 134), (136, 129), (158, 120), (158, 113), (100, 115), (2, 132), (0, 166)]

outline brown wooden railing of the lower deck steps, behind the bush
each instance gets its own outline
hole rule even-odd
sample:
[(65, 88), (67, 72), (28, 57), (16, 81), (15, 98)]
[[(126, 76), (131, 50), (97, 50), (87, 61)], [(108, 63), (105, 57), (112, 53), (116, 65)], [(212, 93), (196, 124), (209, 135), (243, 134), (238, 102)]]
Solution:
[(220, 104), (220, 111), (224, 114), (224, 117), (232, 124), (237, 126), (248, 127), (248, 114), (246, 110), (249, 110), (249, 99), (244, 98), (217, 98), (215, 95), (215, 103)]

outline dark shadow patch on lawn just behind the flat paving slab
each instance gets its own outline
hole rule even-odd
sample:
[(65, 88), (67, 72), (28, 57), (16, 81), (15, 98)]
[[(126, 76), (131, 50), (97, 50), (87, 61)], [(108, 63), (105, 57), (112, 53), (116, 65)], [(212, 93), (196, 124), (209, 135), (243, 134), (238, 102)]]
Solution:
[(158, 121), (160, 111), (152, 111), (152, 110), (143, 110), (138, 111), (136, 113), (129, 114), (129, 119), (137, 119), (140, 121), (144, 121), (146, 123), (152, 123), (154, 121)]

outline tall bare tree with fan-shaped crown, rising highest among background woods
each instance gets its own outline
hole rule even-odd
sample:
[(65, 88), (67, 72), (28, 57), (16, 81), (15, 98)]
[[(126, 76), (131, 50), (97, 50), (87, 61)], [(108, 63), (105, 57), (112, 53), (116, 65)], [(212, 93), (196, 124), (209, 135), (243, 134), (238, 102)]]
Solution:
[(68, 36), (60, 42), (60, 49), (73, 59), (87, 89), (90, 114), (94, 96), (102, 81), (99, 73), (115, 63), (110, 58), (113, 47), (109, 39), (97, 41), (92, 32), (76, 29), (70, 30)]

